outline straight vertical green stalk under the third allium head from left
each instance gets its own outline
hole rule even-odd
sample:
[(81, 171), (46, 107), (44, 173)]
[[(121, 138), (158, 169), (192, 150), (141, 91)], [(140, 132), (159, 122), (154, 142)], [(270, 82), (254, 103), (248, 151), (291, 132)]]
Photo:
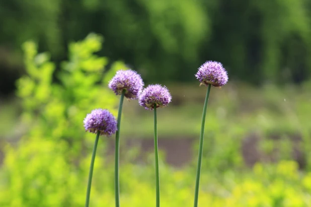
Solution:
[(154, 104), (154, 159), (155, 159), (155, 190), (156, 205), (160, 207), (160, 178), (159, 178), (159, 155), (158, 155), (158, 130), (157, 130), (157, 105)]

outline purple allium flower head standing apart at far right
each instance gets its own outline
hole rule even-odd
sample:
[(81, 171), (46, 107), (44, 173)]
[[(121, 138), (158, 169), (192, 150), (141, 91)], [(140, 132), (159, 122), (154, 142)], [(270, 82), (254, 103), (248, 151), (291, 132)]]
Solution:
[(228, 75), (220, 62), (206, 61), (195, 75), (201, 84), (219, 87), (228, 82)]

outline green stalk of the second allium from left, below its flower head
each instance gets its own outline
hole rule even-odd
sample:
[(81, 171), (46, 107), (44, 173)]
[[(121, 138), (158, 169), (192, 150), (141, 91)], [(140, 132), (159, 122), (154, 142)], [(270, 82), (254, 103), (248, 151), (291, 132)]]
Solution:
[(121, 125), (121, 115), (122, 115), (122, 106), (124, 99), (125, 90), (122, 91), (119, 111), (118, 111), (118, 123), (116, 131), (116, 149), (115, 149), (115, 198), (116, 198), (116, 207), (120, 206), (120, 190), (119, 190), (119, 151), (120, 151), (120, 125)]

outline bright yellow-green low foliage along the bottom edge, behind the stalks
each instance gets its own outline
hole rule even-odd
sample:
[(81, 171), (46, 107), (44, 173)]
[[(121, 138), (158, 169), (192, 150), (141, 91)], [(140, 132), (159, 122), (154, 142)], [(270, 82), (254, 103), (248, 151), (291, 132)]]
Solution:
[[(91, 157), (79, 166), (68, 164), (66, 144), (40, 138), (21, 142), (18, 151), (7, 150), (0, 185), (1, 206), (83, 206)], [(147, 166), (121, 165), (121, 203), (144, 207), (154, 204), (153, 171)], [(191, 206), (193, 176), (187, 170), (161, 166), (163, 206)], [(129, 179), (130, 178), (130, 179)], [(113, 165), (98, 156), (91, 193), (92, 206), (114, 205)], [(311, 174), (298, 172), (297, 164), (254, 166), (253, 171), (204, 171), (201, 206), (309, 206)]]

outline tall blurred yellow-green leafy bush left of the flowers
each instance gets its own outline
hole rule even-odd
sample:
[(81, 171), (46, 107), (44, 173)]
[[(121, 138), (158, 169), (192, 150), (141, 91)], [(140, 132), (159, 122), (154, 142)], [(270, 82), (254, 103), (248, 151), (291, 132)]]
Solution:
[(107, 88), (108, 80), (126, 68), (115, 62), (104, 74), (108, 59), (94, 54), (101, 50), (102, 41), (101, 36), (90, 34), (71, 43), (69, 60), (62, 62), (60, 70), (55, 70), (48, 53), (37, 53), (35, 43), (24, 43), (27, 75), (18, 80), (17, 93), (22, 121), (29, 130), (17, 149), (6, 150), (2, 206), (76, 206), (81, 202), (75, 188), (82, 185), (88, 168), (79, 163), (82, 152), (92, 145), (86, 136), (93, 135), (85, 133), (83, 119), (94, 108), (115, 111), (118, 99)]

